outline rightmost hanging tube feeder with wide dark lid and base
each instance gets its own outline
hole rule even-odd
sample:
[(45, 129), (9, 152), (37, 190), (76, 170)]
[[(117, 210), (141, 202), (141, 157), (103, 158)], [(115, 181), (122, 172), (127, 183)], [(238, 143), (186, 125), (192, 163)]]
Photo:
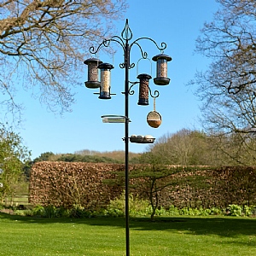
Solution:
[(172, 61), (172, 57), (164, 54), (155, 55), (152, 58), (156, 61), (156, 78), (154, 78), (154, 84), (167, 85), (170, 83), (170, 79), (167, 77), (167, 62)]

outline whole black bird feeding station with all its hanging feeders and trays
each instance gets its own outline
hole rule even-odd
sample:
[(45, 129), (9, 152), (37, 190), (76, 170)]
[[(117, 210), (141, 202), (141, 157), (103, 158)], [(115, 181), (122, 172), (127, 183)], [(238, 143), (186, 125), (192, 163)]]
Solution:
[[(158, 90), (154, 90), (154, 96), (151, 93), (151, 89), (149, 86), (149, 79), (151, 79), (151, 76), (143, 73), (139, 74), (137, 76), (137, 79), (139, 79), (139, 82), (131, 82), (129, 79), (130, 77), (130, 69), (135, 67), (135, 63), (131, 62), (131, 49), (136, 45), (141, 54), (143, 59), (148, 59), (147, 52), (143, 51), (142, 46), (139, 44), (141, 40), (148, 40), (156, 46), (157, 49), (160, 50), (160, 55), (155, 55), (153, 57), (153, 61), (157, 62), (156, 67), (156, 78), (154, 79), (154, 84), (157, 85), (166, 85), (170, 83), (170, 79), (167, 77), (167, 62), (171, 61), (172, 58), (168, 55), (163, 54), (163, 50), (166, 49), (167, 45), (166, 43), (161, 43), (160, 46), (157, 44), (152, 38), (137, 38), (133, 42), (131, 42), (131, 39), (133, 38), (131, 28), (128, 24), (128, 20), (126, 20), (125, 28), (121, 32), (121, 36), (113, 36), (109, 39), (104, 39), (101, 44), (98, 45), (98, 47), (95, 49), (93, 46), (90, 47), (90, 54), (96, 55), (98, 51), (102, 47), (109, 46), (110, 43), (114, 42), (114, 44), (117, 44), (123, 49), (123, 55), (124, 55), (124, 62), (119, 64), (120, 68), (125, 69), (125, 90), (122, 92), (122, 94), (125, 95), (125, 115), (104, 115), (102, 116), (102, 121), (104, 123), (124, 123), (125, 124), (125, 137), (123, 140), (125, 141), (125, 241), (126, 241), (126, 256), (130, 255), (130, 231), (129, 231), (129, 142), (131, 143), (154, 143), (154, 137), (150, 135), (146, 136), (131, 136), (129, 137), (129, 123), (131, 120), (129, 119), (129, 96), (134, 94), (134, 90), (131, 90), (131, 88), (135, 84), (139, 84), (139, 99), (138, 99), (138, 105), (146, 106), (149, 104), (148, 102), (148, 96), (152, 96), (154, 98), (158, 97), (160, 95)], [(88, 65), (88, 81), (85, 82), (85, 86), (87, 88), (100, 88), (99, 98), (100, 99), (110, 99), (111, 93), (110, 93), (110, 73), (111, 69), (113, 69), (113, 65), (109, 63), (103, 63), (100, 60), (97, 59), (89, 59), (84, 61), (84, 64)], [(101, 71), (101, 81), (98, 81), (98, 71), (99, 69)], [(155, 103), (154, 103), (155, 105)], [(154, 116), (153, 114), (148, 113), (147, 117), (148, 125), (151, 127), (158, 127), (161, 122), (160, 114), (157, 113), (154, 109)], [(157, 126), (158, 125), (158, 126)]]

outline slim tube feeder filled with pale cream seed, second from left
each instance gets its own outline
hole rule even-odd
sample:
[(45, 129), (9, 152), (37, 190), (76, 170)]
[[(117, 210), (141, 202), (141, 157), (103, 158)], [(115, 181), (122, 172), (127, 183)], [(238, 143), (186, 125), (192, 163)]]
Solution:
[(101, 70), (101, 86), (100, 86), (100, 99), (111, 99), (110, 96), (110, 71), (113, 65), (109, 63), (102, 63), (98, 66)]

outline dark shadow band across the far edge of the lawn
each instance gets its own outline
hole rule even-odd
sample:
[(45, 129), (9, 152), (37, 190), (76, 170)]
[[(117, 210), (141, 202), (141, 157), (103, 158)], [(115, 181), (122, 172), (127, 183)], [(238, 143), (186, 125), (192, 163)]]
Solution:
[[(24, 223), (53, 224), (76, 223), (95, 226), (113, 226), (125, 229), (125, 218), (35, 218), (10, 215), (0, 212), (2, 221), (20, 221)], [(170, 217), (130, 218), (131, 230), (166, 230), (193, 235), (216, 235), (225, 237), (256, 236), (256, 218), (230, 217)], [(253, 242), (253, 246), (256, 244)]]

